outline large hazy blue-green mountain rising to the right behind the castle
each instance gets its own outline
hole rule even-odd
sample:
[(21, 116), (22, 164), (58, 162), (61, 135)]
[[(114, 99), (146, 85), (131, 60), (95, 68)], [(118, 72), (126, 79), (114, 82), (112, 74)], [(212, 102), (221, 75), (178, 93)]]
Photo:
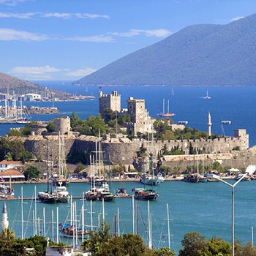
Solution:
[(83, 85), (253, 86), (256, 15), (193, 25), (74, 82)]

